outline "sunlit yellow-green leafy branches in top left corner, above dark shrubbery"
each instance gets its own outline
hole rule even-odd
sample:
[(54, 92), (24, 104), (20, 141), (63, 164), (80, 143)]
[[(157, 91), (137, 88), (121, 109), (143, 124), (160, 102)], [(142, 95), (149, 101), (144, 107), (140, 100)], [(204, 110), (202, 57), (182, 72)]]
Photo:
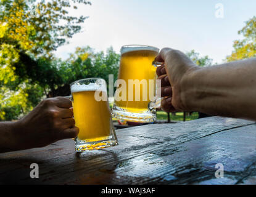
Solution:
[[(85, 0), (1, 0), (2, 42), (16, 42), (32, 54), (51, 56), (52, 50), (81, 30), (80, 24), (87, 18), (69, 15), (71, 2), (90, 4)], [(77, 9), (75, 4), (73, 9)]]

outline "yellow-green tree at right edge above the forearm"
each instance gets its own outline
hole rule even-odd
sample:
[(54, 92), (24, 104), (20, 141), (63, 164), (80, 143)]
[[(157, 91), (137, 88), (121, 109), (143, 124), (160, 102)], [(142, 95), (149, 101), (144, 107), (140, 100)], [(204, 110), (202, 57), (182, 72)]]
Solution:
[(256, 17), (250, 18), (238, 34), (242, 34), (244, 39), (234, 41), (234, 50), (226, 57), (228, 62), (256, 57)]

